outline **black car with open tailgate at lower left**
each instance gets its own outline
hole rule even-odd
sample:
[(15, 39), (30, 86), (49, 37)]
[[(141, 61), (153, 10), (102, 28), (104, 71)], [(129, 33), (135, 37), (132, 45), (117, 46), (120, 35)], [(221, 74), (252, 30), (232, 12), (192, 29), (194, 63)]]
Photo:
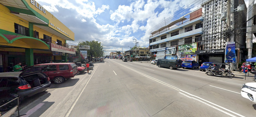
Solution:
[[(47, 90), (51, 86), (49, 80), (49, 77), (40, 71), (0, 73), (0, 106), (16, 97), (24, 100)], [(1, 107), (0, 112), (10, 110), (16, 105), (17, 100), (14, 100)]]

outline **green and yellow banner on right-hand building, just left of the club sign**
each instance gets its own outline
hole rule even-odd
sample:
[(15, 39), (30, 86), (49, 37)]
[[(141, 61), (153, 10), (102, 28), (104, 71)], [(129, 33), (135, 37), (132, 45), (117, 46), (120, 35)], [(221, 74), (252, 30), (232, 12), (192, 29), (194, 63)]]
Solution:
[(194, 54), (197, 50), (197, 43), (180, 45), (178, 49), (182, 54)]

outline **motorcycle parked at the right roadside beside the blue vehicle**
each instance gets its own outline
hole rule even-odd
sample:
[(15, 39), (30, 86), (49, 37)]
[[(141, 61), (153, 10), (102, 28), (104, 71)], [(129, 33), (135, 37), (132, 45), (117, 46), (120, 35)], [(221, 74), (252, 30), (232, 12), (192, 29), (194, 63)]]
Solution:
[[(225, 65), (228, 65), (228, 64), (225, 64)], [(229, 68), (230, 68), (230, 66), (229, 66)], [(212, 66), (212, 65), (210, 65), (206, 69), (205, 74), (207, 74), (208, 76), (235, 77), (235, 75), (232, 74), (229, 69), (223, 70), (221, 67)]]

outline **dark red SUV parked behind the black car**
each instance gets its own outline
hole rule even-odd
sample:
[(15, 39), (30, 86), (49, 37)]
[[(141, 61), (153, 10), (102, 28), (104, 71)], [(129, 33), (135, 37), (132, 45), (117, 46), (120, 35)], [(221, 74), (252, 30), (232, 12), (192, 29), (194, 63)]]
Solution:
[(51, 63), (51, 64), (37, 64), (30, 69), (26, 70), (37, 70), (47, 74), (51, 81), (55, 84), (62, 84), (68, 78), (77, 75), (77, 65), (74, 63)]

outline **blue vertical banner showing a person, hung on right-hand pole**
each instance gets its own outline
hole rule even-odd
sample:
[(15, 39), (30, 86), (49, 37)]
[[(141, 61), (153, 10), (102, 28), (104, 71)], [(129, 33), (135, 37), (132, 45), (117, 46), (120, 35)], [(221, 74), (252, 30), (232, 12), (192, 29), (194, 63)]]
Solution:
[(236, 63), (236, 43), (235, 42), (227, 42), (226, 44), (226, 55), (225, 55), (225, 63)]

